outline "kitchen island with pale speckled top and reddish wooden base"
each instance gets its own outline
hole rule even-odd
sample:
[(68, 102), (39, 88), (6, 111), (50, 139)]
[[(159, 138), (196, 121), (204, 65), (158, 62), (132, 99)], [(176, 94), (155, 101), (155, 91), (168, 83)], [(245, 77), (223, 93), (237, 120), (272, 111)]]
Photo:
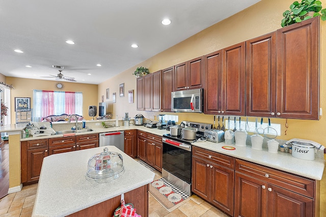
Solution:
[[(125, 172), (107, 183), (88, 181), (88, 160), (104, 147), (121, 153)], [(154, 175), (115, 146), (53, 154), (43, 160), (32, 216), (112, 216), (123, 193), (126, 203), (148, 216), (148, 184)]]

